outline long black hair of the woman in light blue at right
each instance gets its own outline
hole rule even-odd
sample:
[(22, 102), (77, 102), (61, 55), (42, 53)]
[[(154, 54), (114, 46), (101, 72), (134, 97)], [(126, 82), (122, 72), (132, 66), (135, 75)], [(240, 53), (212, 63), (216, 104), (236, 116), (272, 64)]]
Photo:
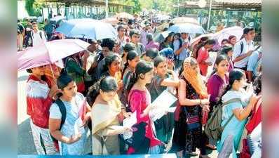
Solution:
[(222, 104), (222, 97), (228, 92), (231, 90), (231, 88), (233, 88), (233, 83), (234, 81), (240, 81), (243, 77), (245, 77), (245, 72), (243, 70), (240, 70), (240, 69), (233, 69), (231, 70), (231, 72), (229, 73), (229, 84), (226, 86), (226, 88), (224, 88), (222, 91), (222, 96), (219, 99), (218, 101), (218, 104)]

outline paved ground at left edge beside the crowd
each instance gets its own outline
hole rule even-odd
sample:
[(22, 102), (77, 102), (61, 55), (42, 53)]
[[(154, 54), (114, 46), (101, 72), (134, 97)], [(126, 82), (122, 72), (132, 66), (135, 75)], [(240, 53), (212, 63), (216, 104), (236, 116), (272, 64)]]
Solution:
[[(27, 81), (27, 77), (27, 72), (18, 72), (18, 154), (36, 154), (32, 131), (29, 125), (29, 117), (26, 114), (25, 83)], [(86, 146), (87, 150), (90, 151), (90, 136), (88, 137), (88, 143)], [(217, 152), (213, 151), (208, 156), (217, 158)]]

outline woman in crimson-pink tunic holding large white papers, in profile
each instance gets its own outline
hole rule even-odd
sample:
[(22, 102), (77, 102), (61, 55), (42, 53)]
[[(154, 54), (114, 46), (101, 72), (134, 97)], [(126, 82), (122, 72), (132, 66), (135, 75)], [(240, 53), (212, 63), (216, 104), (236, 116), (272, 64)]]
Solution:
[[(139, 62), (135, 68), (135, 74), (130, 79), (128, 86), (129, 96), (128, 103), (130, 105), (131, 112), (136, 112), (137, 124), (145, 122), (145, 136), (149, 138), (149, 152), (148, 154), (159, 154), (161, 141), (154, 135), (154, 122), (149, 117), (151, 110), (151, 96), (146, 88), (147, 84), (151, 83), (153, 77), (153, 67), (146, 62)], [(135, 152), (132, 147), (128, 148), (128, 154)], [(146, 153), (147, 154), (147, 153)]]

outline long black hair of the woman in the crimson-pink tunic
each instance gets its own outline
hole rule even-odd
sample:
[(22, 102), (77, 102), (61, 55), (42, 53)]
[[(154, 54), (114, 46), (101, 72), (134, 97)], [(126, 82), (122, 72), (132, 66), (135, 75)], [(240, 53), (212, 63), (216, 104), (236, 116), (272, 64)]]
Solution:
[(134, 86), (134, 84), (140, 78), (140, 74), (146, 74), (147, 72), (150, 72), (152, 69), (153, 67), (149, 65), (147, 62), (140, 61), (139, 63), (137, 63), (137, 66), (135, 67), (135, 72), (132, 74), (132, 77), (128, 84), (128, 92), (130, 92), (132, 86)]

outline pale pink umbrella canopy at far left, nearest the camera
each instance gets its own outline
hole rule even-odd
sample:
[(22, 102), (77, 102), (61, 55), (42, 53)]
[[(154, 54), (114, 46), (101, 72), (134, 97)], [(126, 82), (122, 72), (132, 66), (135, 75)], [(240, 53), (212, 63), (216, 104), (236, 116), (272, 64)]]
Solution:
[(90, 44), (80, 39), (59, 39), (42, 42), (18, 53), (18, 71), (48, 65), (74, 53), (86, 50)]

